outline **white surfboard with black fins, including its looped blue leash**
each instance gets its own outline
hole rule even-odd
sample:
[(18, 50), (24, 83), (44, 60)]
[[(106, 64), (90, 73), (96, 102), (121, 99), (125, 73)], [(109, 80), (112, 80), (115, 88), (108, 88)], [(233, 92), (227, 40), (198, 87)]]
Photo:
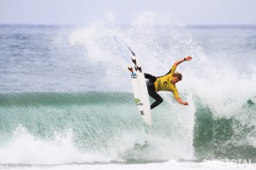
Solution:
[(125, 60), (130, 64), (129, 70), (131, 72), (131, 86), (134, 95), (134, 101), (137, 104), (139, 114), (143, 120), (151, 126), (151, 110), (149, 104), (149, 93), (146, 85), (146, 79), (140, 63), (138, 62), (134, 52), (128, 47), (123, 40), (118, 36), (114, 36), (115, 41), (119, 45), (121, 54)]

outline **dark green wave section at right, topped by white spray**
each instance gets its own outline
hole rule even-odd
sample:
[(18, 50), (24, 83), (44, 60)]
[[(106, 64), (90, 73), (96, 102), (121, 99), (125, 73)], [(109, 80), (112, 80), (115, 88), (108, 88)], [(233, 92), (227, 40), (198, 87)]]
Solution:
[(193, 131), (195, 155), (201, 159), (256, 160), (256, 104), (247, 100), (236, 115), (216, 117), (209, 106), (198, 104)]

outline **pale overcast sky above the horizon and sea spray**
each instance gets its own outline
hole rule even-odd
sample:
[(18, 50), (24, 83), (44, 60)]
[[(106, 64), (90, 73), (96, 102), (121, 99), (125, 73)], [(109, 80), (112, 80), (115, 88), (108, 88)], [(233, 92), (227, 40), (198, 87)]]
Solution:
[(256, 0), (0, 0), (0, 24), (117, 23), (154, 12), (186, 25), (256, 25)]

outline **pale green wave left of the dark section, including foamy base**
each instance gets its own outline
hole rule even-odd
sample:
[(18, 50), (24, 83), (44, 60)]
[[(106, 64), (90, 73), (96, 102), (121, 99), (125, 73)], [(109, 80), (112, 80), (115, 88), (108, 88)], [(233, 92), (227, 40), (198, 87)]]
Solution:
[(131, 93), (31, 92), (0, 98), (2, 164), (192, 159), (187, 155), (192, 125), (180, 128), (181, 118), (166, 114), (167, 107), (153, 115), (150, 128)]

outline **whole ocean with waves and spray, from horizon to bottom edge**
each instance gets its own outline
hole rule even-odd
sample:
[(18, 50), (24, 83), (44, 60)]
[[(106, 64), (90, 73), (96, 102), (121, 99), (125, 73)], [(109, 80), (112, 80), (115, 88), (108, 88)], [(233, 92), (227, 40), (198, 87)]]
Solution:
[[(152, 126), (113, 35), (143, 71), (177, 71)], [(0, 169), (255, 169), (256, 26), (0, 25)], [(153, 102), (152, 99), (150, 99)]]

